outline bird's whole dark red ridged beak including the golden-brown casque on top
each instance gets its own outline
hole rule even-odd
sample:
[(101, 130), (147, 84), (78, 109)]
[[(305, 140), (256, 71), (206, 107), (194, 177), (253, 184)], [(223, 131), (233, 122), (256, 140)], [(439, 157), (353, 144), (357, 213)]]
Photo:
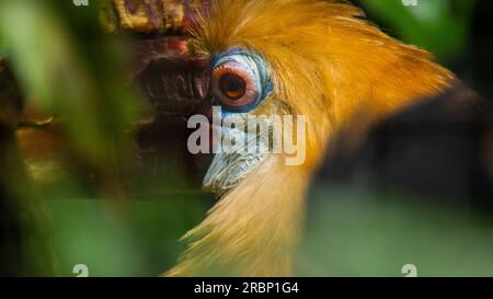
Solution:
[[(121, 23), (125, 23), (139, 32), (131, 36), (135, 38), (131, 41), (129, 81), (144, 95), (142, 100), (149, 107), (147, 116), (137, 124), (136, 131), (142, 169), (152, 170), (146, 173), (159, 173), (154, 171), (156, 161), (173, 161), (180, 164), (177, 166), (188, 174), (192, 185), (196, 183), (199, 191), (211, 157), (194, 156), (187, 149), (187, 138), (192, 133), (187, 128), (187, 119), (195, 114), (208, 116), (210, 111), (210, 61), (207, 57), (192, 54), (184, 27), (194, 23), (197, 13), (206, 11), (208, 1), (175, 1), (167, 5), (164, 12), (161, 11), (162, 5), (152, 1), (136, 2), (139, 8), (133, 5), (134, 2), (114, 2), (119, 23), (111, 27), (118, 28)], [(144, 27), (139, 26), (141, 13), (149, 21)], [(162, 13), (172, 16), (167, 19), (171, 23), (156, 19)], [(134, 18), (139, 22), (134, 22)]]

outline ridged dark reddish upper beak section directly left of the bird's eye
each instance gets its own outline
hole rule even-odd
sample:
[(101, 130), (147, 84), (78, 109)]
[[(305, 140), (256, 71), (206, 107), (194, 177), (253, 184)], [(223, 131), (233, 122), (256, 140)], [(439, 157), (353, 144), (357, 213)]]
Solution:
[(206, 114), (210, 104), (208, 58), (193, 56), (188, 39), (159, 37), (135, 44), (131, 79), (156, 117), (188, 118)]

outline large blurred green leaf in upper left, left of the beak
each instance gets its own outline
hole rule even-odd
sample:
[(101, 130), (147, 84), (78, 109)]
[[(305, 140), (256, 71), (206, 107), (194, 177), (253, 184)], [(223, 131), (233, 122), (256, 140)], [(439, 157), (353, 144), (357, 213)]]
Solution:
[(51, 1), (1, 1), (0, 36), (27, 94), (60, 116), (90, 165), (110, 163), (115, 149), (129, 148), (125, 130), (142, 103), (124, 85), (126, 47), (112, 38), (88, 44), (73, 33), (94, 28), (88, 24), (98, 18), (81, 18), (76, 28), (62, 12)]

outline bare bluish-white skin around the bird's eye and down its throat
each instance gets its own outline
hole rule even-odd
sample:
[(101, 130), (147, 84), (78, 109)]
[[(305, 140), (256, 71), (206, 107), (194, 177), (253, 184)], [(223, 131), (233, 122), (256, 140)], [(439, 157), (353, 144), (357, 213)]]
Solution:
[[(227, 140), (246, 140), (242, 145), (223, 146), (216, 153), (208, 172), (205, 175), (204, 189), (222, 196), (236, 187), (252, 169), (257, 166), (268, 151), (268, 140), (259, 138), (257, 129), (248, 130), (249, 115), (261, 105), (273, 91), (264, 59), (253, 53), (240, 48), (231, 48), (217, 55), (211, 64), (213, 105), (223, 123), (234, 123), (234, 127), (219, 126), (214, 129), (221, 131)], [(259, 118), (261, 128), (270, 128), (268, 118)], [(220, 140), (218, 140), (220, 142)], [(246, 151), (245, 147), (254, 145), (257, 150)]]

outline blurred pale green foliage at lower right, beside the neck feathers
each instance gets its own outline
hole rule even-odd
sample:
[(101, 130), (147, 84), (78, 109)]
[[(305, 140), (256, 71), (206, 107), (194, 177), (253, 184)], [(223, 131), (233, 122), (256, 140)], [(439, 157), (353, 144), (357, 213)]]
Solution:
[(300, 275), (402, 277), (406, 264), (419, 276), (493, 275), (488, 215), (362, 184), (319, 187), (310, 200)]

